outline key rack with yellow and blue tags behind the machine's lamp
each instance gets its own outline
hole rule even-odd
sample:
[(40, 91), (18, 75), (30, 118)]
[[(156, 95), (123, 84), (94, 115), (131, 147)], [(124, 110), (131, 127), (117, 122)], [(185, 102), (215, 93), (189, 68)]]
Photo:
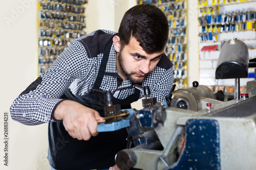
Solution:
[[(212, 91), (234, 92), (233, 81), (215, 79), (220, 49), (225, 41), (237, 37), (248, 46), (249, 59), (256, 57), (256, 1), (199, 0), (198, 7), (200, 84)], [(247, 81), (254, 80), (254, 68), (248, 72), (249, 78), (240, 80), (241, 92), (246, 92)]]

